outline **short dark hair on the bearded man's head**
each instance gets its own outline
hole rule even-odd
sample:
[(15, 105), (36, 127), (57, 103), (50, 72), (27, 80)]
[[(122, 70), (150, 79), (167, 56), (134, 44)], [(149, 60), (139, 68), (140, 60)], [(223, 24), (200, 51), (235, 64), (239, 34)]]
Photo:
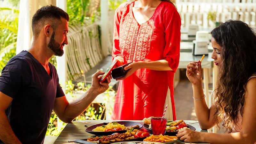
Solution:
[(54, 5), (43, 6), (37, 10), (32, 18), (32, 31), (34, 38), (39, 35), (42, 27), (46, 24), (50, 24), (53, 30), (55, 30), (61, 23), (61, 17), (69, 21), (68, 13)]

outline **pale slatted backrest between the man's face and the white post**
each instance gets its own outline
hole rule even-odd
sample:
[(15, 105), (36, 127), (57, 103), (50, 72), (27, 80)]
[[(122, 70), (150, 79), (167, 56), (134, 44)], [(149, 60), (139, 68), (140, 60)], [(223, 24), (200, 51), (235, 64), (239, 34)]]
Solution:
[(81, 77), (104, 59), (100, 47), (98, 22), (85, 22), (83, 26), (69, 26), (67, 63), (68, 79)]

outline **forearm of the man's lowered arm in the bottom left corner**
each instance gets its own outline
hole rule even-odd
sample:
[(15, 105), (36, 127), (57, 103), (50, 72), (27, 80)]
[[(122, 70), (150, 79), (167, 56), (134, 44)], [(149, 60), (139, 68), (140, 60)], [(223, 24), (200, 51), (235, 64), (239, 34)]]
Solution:
[(0, 112), (0, 139), (5, 144), (21, 144), (20, 140), (12, 131), (11, 125), (7, 119), (5, 112)]

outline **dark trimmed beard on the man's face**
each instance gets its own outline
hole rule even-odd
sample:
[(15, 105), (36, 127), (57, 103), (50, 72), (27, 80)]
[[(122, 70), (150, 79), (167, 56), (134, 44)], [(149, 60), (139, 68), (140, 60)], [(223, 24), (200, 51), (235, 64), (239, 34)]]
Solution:
[(52, 33), (52, 36), (51, 36), (51, 39), (50, 39), (50, 42), (49, 44), (47, 45), (51, 50), (52, 52), (54, 52), (54, 55), (56, 56), (62, 56), (64, 51), (63, 49), (61, 49), (61, 45), (58, 44), (55, 40), (54, 40), (54, 36), (55, 36), (55, 32)]

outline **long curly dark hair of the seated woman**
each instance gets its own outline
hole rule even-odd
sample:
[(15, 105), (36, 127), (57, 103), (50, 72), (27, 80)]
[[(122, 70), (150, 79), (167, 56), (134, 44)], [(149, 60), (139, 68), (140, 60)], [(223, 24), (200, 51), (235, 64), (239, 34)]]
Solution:
[(256, 72), (256, 35), (246, 23), (228, 20), (211, 32), (212, 37), (222, 47), (217, 87), (214, 90), (214, 114), (217, 126), (221, 121), (231, 133), (238, 122), (238, 114), (243, 116), (245, 85)]

